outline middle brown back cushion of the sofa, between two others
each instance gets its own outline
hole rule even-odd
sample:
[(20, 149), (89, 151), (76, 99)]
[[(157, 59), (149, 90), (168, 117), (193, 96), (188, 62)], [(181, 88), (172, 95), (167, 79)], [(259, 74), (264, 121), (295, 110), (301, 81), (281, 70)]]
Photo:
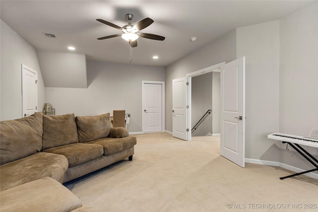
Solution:
[(43, 115), (42, 151), (51, 147), (78, 143), (74, 113), (65, 115)]

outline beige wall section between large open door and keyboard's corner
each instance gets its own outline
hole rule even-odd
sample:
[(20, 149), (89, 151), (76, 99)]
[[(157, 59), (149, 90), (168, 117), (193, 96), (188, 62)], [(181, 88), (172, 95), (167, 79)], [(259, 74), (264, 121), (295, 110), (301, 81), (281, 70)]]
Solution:
[(237, 29), (245, 56), (245, 158), (278, 161), (267, 135), (279, 131), (279, 21)]

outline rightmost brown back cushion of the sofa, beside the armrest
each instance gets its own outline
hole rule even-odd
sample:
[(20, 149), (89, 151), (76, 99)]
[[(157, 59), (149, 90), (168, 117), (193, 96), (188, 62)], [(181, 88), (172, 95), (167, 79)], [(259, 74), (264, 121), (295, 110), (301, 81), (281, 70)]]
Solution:
[(96, 116), (76, 116), (75, 120), (80, 143), (106, 138), (112, 127), (109, 113)]

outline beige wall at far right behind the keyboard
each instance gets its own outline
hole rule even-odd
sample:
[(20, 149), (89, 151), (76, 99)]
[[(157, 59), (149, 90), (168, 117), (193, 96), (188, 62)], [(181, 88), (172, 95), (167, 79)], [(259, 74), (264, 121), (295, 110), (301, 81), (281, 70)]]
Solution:
[[(308, 136), (318, 128), (318, 3), (280, 20), (279, 81), (280, 131)], [(280, 162), (312, 169), (298, 153), (280, 146)], [(317, 148), (305, 149), (318, 155)]]

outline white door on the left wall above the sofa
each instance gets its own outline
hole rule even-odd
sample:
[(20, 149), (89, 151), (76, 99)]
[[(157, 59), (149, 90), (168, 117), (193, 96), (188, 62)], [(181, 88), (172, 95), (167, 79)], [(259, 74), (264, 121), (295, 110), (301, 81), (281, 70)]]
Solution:
[(37, 111), (37, 71), (22, 64), (22, 117)]

